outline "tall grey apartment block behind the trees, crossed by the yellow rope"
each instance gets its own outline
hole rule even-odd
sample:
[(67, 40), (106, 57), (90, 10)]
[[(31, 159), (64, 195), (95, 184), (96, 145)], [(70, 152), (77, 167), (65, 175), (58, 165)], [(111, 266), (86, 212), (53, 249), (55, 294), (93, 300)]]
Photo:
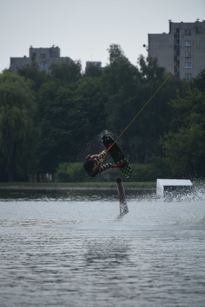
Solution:
[[(205, 68), (204, 32), (205, 20), (179, 23), (169, 20), (169, 33), (148, 34), (148, 46), (144, 46), (148, 49), (148, 56), (157, 57), (159, 65), (165, 67), (167, 72), (176, 68), (175, 73), (181, 79), (189, 80)], [(183, 58), (183, 62), (177, 67)]]

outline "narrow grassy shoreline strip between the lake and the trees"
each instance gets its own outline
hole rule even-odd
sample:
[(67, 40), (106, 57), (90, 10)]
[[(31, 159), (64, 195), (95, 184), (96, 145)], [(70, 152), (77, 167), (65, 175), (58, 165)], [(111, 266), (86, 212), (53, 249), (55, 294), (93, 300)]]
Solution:
[[(0, 190), (116, 190), (113, 185), (0, 185)], [(124, 190), (156, 191), (156, 186), (151, 185), (124, 185)]]

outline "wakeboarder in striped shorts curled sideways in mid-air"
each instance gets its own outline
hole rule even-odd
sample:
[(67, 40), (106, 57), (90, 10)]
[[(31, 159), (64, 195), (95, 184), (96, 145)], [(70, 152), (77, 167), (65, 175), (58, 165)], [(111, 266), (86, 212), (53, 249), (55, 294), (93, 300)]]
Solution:
[(112, 144), (109, 144), (108, 148), (103, 150), (100, 154), (94, 154), (94, 155), (89, 154), (87, 157), (85, 157), (83, 167), (89, 176), (95, 177), (98, 173), (101, 173), (105, 171), (106, 169), (116, 169), (116, 168), (123, 167), (126, 165), (126, 162), (122, 162), (119, 164), (106, 163), (106, 164), (101, 165), (103, 162), (105, 153), (108, 151), (108, 149), (111, 146)]

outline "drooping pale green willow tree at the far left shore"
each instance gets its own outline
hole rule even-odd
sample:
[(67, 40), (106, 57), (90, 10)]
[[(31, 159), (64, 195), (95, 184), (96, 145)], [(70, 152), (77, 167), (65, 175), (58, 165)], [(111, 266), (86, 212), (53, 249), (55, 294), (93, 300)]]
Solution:
[(8, 70), (0, 75), (0, 180), (28, 181), (38, 139), (31, 80)]

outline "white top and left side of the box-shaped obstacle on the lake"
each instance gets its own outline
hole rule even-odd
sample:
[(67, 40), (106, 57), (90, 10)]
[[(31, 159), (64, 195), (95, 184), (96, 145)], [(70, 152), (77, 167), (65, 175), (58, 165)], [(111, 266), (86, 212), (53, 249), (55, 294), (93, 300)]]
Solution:
[(157, 197), (164, 197), (164, 187), (166, 186), (190, 187), (192, 186), (192, 183), (191, 180), (189, 179), (157, 179), (157, 187), (156, 187)]

